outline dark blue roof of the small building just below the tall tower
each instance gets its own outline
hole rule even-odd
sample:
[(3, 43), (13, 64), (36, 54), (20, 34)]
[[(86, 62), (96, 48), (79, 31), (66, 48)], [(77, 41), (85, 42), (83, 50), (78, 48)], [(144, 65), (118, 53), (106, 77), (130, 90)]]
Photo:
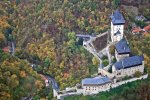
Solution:
[(115, 45), (116, 51), (118, 54), (127, 54), (130, 53), (130, 48), (128, 46), (128, 43), (125, 38), (121, 39), (116, 45)]

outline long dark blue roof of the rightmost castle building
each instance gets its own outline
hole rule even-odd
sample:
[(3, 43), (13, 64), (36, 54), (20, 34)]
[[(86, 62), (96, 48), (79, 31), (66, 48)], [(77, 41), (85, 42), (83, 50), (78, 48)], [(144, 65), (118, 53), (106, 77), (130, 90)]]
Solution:
[(119, 62), (116, 62), (114, 66), (116, 70), (126, 69), (130, 67), (135, 67), (137, 65), (142, 65), (142, 61), (144, 61), (143, 56), (132, 56), (132, 57), (128, 57), (123, 60), (120, 60)]

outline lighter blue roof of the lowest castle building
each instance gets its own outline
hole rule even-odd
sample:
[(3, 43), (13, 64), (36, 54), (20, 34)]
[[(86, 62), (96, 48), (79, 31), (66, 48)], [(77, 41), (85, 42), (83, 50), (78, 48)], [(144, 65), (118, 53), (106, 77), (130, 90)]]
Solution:
[(94, 78), (85, 78), (82, 80), (83, 85), (102, 85), (111, 82), (108, 77), (94, 77)]

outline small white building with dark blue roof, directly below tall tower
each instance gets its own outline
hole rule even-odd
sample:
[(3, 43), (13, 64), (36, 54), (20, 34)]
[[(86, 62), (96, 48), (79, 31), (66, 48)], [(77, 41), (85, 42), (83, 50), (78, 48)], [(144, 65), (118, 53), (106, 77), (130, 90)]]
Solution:
[(115, 57), (117, 61), (122, 60), (126, 57), (130, 56), (130, 48), (128, 45), (128, 42), (125, 38), (121, 39), (116, 45), (115, 45)]

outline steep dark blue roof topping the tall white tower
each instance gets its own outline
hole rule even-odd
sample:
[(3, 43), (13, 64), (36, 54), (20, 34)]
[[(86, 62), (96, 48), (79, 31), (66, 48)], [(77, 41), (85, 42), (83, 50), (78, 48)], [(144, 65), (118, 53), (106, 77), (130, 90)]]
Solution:
[(125, 24), (124, 17), (122, 16), (121, 12), (119, 10), (116, 10), (112, 15), (111, 15), (111, 20), (112, 23), (117, 25), (117, 24)]

